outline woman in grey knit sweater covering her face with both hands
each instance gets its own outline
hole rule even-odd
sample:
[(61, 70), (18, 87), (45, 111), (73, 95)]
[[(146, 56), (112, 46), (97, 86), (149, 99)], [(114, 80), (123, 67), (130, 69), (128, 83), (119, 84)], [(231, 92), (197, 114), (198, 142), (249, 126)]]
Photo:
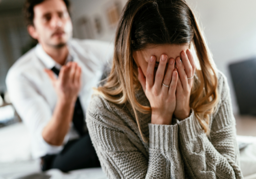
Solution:
[(184, 0), (127, 2), (96, 93), (86, 120), (110, 179), (243, 178), (227, 80)]

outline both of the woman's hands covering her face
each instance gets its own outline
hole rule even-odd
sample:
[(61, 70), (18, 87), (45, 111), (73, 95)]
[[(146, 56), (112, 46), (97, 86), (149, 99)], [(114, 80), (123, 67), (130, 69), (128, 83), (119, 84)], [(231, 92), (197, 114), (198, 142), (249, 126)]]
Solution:
[[(188, 78), (193, 77), (196, 67), (189, 50), (182, 51), (181, 58), (182, 62), (180, 57), (176, 58), (175, 68), (174, 59), (168, 60), (166, 55), (161, 55), (155, 80), (155, 56), (151, 56), (148, 62), (146, 78), (142, 70), (138, 68), (138, 79), (152, 108), (151, 123), (153, 124), (169, 125), (173, 114), (180, 120), (185, 119), (190, 114), (189, 99), (193, 78)], [(166, 65), (168, 67), (166, 74), (164, 74)]]

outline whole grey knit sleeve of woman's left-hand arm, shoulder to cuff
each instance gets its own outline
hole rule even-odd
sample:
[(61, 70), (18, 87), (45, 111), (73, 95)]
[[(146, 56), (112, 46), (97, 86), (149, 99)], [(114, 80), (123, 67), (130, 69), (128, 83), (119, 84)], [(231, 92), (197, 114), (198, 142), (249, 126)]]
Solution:
[(177, 124), (149, 124), (147, 155), (141, 145), (136, 144), (141, 141), (133, 135), (130, 128), (133, 124), (123, 125), (123, 121), (103, 98), (93, 97), (86, 122), (102, 169), (109, 179), (184, 178)]

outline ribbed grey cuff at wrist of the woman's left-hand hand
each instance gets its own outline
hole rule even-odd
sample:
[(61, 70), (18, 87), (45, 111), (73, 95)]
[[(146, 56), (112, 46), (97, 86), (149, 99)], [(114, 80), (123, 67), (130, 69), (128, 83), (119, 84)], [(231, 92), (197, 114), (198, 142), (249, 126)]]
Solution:
[(149, 147), (167, 152), (178, 147), (178, 125), (148, 124)]

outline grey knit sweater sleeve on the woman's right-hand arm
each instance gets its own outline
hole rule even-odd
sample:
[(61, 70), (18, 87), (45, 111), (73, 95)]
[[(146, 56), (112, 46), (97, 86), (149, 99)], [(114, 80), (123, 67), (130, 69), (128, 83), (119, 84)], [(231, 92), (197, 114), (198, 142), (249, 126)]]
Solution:
[(211, 116), (210, 140), (194, 111), (187, 119), (178, 121), (181, 155), (189, 178), (243, 178), (229, 87), (221, 73), (218, 90), (221, 99), (217, 111)]

